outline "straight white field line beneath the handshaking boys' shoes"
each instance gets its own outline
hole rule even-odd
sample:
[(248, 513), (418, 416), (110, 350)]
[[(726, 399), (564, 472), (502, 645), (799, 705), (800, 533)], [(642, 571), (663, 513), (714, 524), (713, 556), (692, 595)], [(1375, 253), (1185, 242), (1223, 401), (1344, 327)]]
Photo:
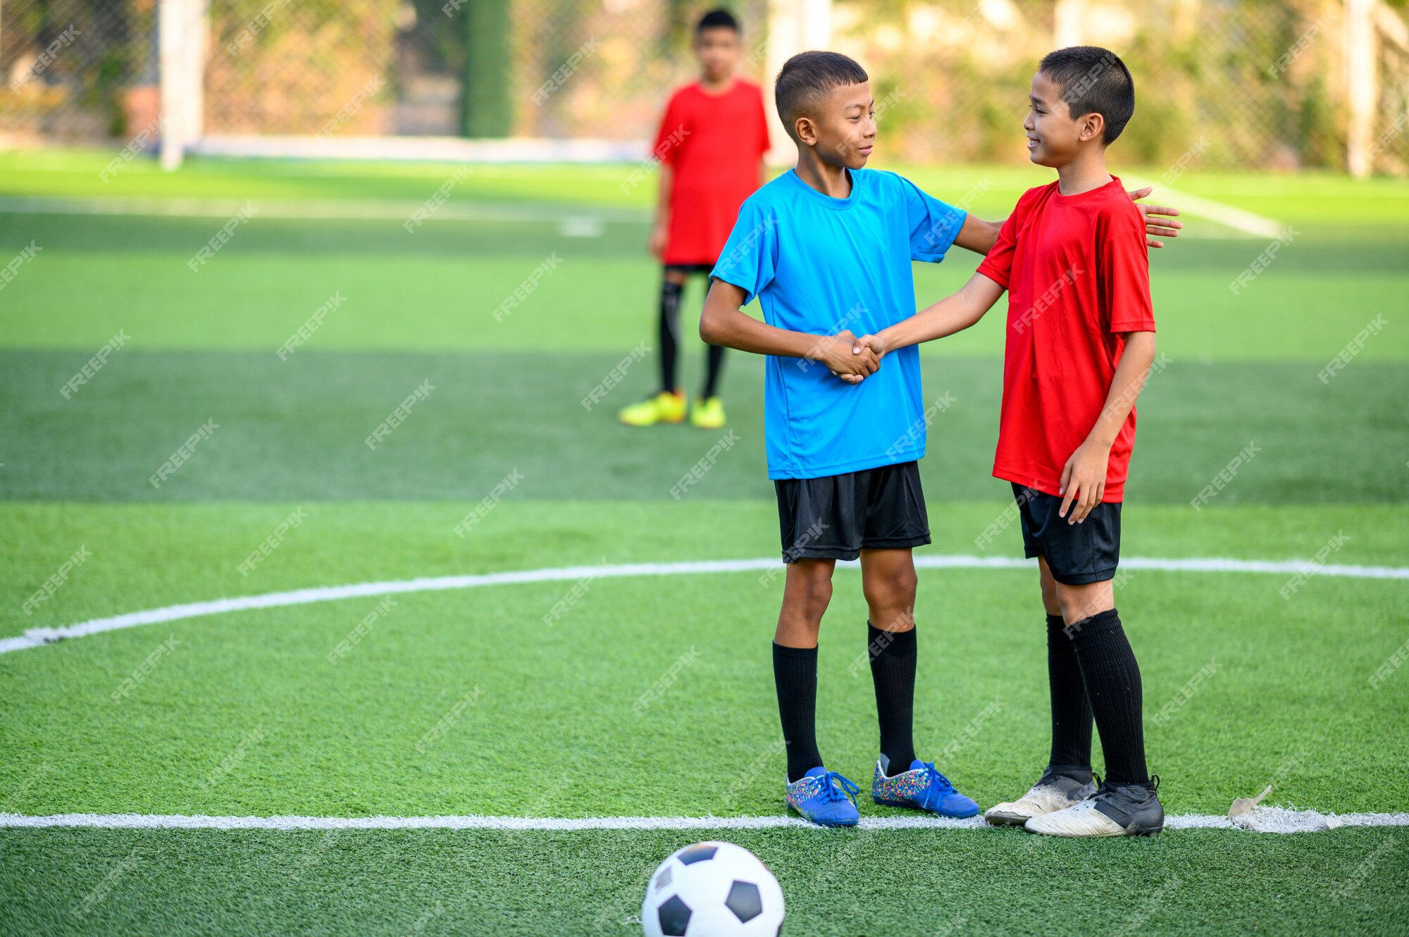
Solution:
[[(1315, 810), (1298, 812), (1309, 821), (1333, 819), (1339, 826), (1377, 827), (1409, 826), (1409, 813), (1343, 813), (1320, 814)], [(24, 816), (0, 813), (0, 829), (97, 827), (103, 830), (819, 830), (800, 817), (213, 817), (152, 813), (56, 813), (52, 816)], [(1230, 819), (1213, 814), (1181, 814), (1165, 819), (1171, 830), (1240, 830)], [(868, 817), (862, 830), (989, 830), (983, 817), (951, 820), (945, 817)], [(1299, 829), (1291, 824), (1277, 830), (1312, 831), (1308, 823)], [(1320, 829), (1324, 829), (1322, 824)]]

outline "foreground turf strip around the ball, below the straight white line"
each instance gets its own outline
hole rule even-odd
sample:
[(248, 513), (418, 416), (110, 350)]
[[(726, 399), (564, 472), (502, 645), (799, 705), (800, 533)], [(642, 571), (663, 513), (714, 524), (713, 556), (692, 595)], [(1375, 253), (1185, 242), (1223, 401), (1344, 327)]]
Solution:
[[(0, 851), (0, 881), (13, 888), (0, 930), (640, 934), (651, 871), (700, 836), (11, 833)], [(771, 830), (728, 840), (778, 876), (783, 934), (1398, 937), (1409, 927), (1409, 844), (1394, 830), (1188, 831), (1099, 850), (1019, 830)]]

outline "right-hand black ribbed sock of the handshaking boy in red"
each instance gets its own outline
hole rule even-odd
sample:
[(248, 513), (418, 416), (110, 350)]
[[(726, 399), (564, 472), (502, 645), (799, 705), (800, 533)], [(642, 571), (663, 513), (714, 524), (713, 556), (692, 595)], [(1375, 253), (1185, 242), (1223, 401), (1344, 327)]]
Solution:
[(1150, 781), (1144, 759), (1140, 665), (1120, 627), (1116, 610), (1093, 614), (1071, 626), (1072, 648), (1081, 664), (1086, 696), (1096, 716), (1106, 779), (1116, 783)]

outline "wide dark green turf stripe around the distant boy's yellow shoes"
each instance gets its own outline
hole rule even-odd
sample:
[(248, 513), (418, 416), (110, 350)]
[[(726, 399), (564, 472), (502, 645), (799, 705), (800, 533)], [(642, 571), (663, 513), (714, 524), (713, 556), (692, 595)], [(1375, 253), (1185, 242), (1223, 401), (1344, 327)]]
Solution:
[[(674, 502), (672, 488), (726, 435), (620, 426), (617, 407), (651, 386), (648, 359), (628, 359), (626, 380), (583, 407), (621, 362), (616, 354), (297, 352), (279, 361), (272, 351), (141, 351), (137, 333), (132, 341), (69, 400), (59, 389), (87, 354), (0, 351), (6, 497), (478, 500), (517, 469), (523, 479), (506, 497)], [(772, 497), (762, 361), (740, 354), (727, 366), (734, 438), (683, 499)], [(1188, 506), (1248, 444), (1257, 451), (1213, 503), (1405, 500), (1409, 371), (1355, 361), (1329, 385), (1316, 371), (1169, 364), (1140, 400), (1131, 503)], [(1005, 497), (1007, 486), (991, 476), (1000, 362), (945, 358), (923, 372), (926, 400), (951, 402), (934, 414), (920, 464), (929, 497)], [(365, 440), (424, 380), (430, 396), (369, 448)], [(207, 420), (213, 435), (154, 486), (151, 476)]]

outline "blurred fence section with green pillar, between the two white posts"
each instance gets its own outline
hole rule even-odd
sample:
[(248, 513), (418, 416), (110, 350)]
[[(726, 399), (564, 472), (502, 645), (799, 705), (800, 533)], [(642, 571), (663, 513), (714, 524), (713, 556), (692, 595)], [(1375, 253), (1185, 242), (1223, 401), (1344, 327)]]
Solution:
[[(692, 6), (213, 0), (206, 131), (324, 132), (358, 100), (337, 132), (458, 135), (475, 118), (468, 97), (504, 111), (493, 135), (644, 138), (664, 93), (693, 72)], [(765, 0), (737, 8), (750, 32), (765, 20)], [(500, 73), (476, 72), (472, 52)], [(502, 100), (475, 97), (476, 80)]]

